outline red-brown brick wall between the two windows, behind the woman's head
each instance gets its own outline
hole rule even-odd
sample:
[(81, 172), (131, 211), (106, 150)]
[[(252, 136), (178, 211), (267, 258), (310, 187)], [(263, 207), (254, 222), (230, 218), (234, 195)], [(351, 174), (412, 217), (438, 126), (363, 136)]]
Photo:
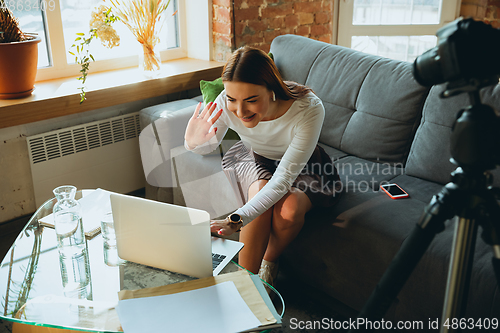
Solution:
[(213, 0), (215, 60), (244, 45), (268, 52), (283, 34), (329, 43), (332, 24), (333, 0)]

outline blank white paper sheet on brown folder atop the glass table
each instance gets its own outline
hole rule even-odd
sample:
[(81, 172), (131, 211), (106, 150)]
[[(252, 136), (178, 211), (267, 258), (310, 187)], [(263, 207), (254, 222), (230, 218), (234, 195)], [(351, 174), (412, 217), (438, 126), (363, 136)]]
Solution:
[(125, 333), (234, 333), (260, 325), (232, 281), (172, 295), (122, 300), (116, 311)]

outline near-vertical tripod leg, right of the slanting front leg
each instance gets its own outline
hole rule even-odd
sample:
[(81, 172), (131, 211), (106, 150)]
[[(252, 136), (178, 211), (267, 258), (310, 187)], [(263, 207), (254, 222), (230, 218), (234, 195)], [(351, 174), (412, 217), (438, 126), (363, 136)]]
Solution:
[(475, 220), (466, 218), (456, 225), (442, 317), (442, 323), (450, 325), (442, 325), (442, 333), (455, 331), (451, 320), (465, 317), (477, 228)]

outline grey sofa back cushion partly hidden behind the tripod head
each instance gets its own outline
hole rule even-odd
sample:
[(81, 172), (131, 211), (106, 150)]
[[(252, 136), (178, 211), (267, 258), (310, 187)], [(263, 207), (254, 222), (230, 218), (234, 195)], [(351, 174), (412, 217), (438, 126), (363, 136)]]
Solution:
[[(438, 85), (430, 91), (406, 165), (406, 174), (440, 184), (449, 182), (450, 173), (457, 168), (450, 162), (451, 127), (460, 109), (470, 104), (466, 93), (440, 98), (444, 88)], [(481, 98), (484, 104), (500, 110), (500, 85), (482, 89)], [(500, 186), (500, 168), (493, 175), (495, 186)]]

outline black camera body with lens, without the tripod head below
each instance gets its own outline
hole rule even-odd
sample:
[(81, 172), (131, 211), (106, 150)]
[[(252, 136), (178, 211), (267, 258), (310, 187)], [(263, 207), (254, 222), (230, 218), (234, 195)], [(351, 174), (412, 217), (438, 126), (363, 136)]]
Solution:
[(417, 57), (413, 64), (418, 83), (432, 86), (449, 82), (453, 89), (471, 86), (449, 96), (498, 83), (499, 29), (470, 18), (459, 18), (439, 29), (436, 36), (438, 45)]

